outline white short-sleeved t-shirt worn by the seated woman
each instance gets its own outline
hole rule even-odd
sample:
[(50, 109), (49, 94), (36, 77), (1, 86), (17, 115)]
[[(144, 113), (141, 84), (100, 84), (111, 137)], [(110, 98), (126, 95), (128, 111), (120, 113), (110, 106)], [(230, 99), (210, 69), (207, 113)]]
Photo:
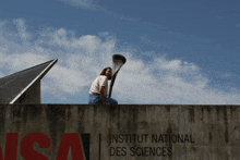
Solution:
[(108, 77), (106, 75), (99, 75), (91, 86), (89, 94), (100, 94), (99, 89), (104, 86), (104, 96), (108, 94)]

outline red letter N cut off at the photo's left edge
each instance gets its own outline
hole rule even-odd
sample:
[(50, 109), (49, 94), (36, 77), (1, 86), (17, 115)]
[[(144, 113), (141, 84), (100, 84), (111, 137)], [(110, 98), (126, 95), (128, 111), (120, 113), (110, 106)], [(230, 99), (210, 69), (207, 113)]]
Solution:
[[(4, 160), (16, 160), (17, 137), (19, 137), (17, 133), (7, 133)], [(0, 147), (0, 160), (3, 160), (1, 147)]]

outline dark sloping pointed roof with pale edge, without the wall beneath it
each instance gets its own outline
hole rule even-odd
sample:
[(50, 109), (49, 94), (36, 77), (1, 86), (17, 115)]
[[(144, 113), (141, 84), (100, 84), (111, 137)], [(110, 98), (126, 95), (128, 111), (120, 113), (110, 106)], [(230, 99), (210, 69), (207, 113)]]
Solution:
[(0, 103), (14, 103), (35, 82), (41, 79), (58, 60), (51, 60), (0, 78)]

